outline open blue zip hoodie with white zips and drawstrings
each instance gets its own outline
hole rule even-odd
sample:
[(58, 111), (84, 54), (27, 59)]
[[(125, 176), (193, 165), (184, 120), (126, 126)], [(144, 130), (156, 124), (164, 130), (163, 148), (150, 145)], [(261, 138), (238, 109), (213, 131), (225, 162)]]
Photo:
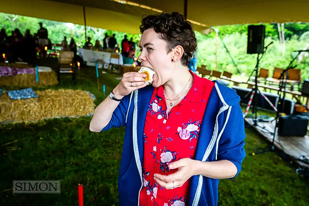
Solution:
[[(125, 96), (108, 125), (102, 129), (105, 131), (112, 127), (126, 126), (118, 176), (119, 205), (139, 206), (144, 158), (143, 130), (153, 90), (154, 87), (150, 85)], [(235, 90), (215, 82), (204, 113), (195, 155), (195, 159), (200, 161), (231, 161), (237, 167), (235, 177), (246, 155), (243, 148), (243, 114), (239, 101)], [(218, 204), (219, 179), (194, 175), (190, 180), (188, 205)]]

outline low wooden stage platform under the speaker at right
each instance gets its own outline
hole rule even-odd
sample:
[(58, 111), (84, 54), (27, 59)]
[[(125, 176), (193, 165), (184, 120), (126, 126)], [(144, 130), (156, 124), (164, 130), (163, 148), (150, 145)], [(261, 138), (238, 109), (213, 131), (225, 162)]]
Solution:
[[(253, 125), (253, 121), (250, 118), (244, 118), (244, 120)], [(270, 132), (274, 131), (275, 121), (273, 122), (259, 122), (258, 125), (260, 127), (253, 126), (253, 128), (262, 136), (265, 137), (267, 141), (270, 143), (273, 141), (273, 135), (268, 133), (265, 129)], [(264, 129), (265, 128), (265, 129)], [(292, 128), (291, 128), (292, 129)], [(297, 161), (295, 158), (302, 159), (302, 156), (309, 155), (309, 137), (306, 135), (305, 137), (282, 137), (279, 136), (276, 131), (275, 137), (275, 147), (282, 152), (288, 154), (290, 158), (296, 162), (298, 165), (309, 168), (309, 162), (301, 162)], [(309, 156), (308, 156), (309, 158)]]

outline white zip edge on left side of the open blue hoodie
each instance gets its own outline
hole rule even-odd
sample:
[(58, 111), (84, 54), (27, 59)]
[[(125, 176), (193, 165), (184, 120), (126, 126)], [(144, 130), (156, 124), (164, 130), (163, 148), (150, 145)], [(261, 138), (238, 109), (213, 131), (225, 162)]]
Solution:
[[(138, 144), (137, 144), (137, 97), (138, 97), (138, 90), (135, 90), (135, 96), (134, 96), (134, 111), (133, 111), (133, 150), (134, 150), (134, 157), (135, 157), (135, 163), (138, 169), (138, 173), (141, 177), (142, 186), (138, 191), (138, 206), (139, 206), (139, 195), (141, 193), (142, 187), (143, 187), (143, 179), (142, 179), (142, 165), (139, 159), (139, 153), (138, 153)], [(136, 137), (136, 138), (135, 138)]]

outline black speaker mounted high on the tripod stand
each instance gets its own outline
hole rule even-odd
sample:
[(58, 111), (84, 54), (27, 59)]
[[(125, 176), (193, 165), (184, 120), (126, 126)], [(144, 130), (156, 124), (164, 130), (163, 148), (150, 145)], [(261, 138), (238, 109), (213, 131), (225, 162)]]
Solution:
[(249, 25), (247, 54), (263, 54), (264, 38), (265, 38), (264, 25)]

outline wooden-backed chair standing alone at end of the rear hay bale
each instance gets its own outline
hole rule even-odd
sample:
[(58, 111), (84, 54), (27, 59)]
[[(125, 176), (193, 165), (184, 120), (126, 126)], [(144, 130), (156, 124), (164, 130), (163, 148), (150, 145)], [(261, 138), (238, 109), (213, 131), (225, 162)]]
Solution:
[(71, 74), (72, 81), (76, 83), (76, 74), (74, 71), (74, 52), (60, 51), (59, 52), (59, 69), (57, 72), (57, 79), (60, 83), (60, 74)]

